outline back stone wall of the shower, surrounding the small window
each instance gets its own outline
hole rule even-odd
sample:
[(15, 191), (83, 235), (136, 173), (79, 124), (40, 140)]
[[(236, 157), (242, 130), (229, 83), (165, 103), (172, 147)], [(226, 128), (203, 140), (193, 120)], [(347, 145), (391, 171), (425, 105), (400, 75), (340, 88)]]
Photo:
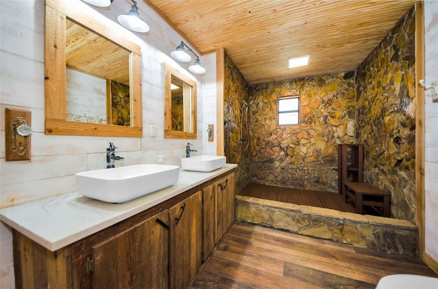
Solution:
[[(277, 124), (279, 96), (300, 96), (300, 124)], [(253, 85), (250, 100), (250, 182), (337, 192), (337, 144), (355, 141), (355, 72)]]

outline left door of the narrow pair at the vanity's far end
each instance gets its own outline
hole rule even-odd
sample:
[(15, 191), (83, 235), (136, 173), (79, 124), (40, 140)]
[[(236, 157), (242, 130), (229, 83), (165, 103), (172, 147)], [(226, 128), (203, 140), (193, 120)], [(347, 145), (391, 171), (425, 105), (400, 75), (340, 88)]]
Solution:
[(217, 184), (203, 189), (203, 261), (216, 245), (216, 189)]

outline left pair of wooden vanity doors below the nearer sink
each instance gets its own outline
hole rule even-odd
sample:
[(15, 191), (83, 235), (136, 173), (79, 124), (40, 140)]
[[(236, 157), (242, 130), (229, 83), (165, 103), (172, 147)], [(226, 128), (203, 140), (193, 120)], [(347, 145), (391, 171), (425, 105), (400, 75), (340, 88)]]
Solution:
[(93, 246), (92, 260), (93, 288), (168, 288), (168, 210)]

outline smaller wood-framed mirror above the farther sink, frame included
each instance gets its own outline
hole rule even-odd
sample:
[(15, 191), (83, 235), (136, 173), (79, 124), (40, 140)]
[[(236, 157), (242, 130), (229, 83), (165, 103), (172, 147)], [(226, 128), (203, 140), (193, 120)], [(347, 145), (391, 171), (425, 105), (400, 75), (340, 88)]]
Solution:
[(164, 64), (164, 137), (196, 139), (196, 81)]

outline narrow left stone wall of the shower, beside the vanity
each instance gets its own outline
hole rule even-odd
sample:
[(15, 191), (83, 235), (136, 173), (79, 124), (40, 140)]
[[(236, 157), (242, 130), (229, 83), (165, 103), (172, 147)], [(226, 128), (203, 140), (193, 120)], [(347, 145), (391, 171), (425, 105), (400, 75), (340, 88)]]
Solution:
[[(229, 150), (225, 151), (227, 163), (238, 165), (236, 170), (236, 190), (240, 192), (248, 184), (249, 148), (246, 141), (240, 141), (242, 129), (242, 108), (248, 100), (248, 83), (243, 75), (225, 54), (224, 69), (224, 120), (229, 120)], [(246, 130), (244, 130), (246, 133)], [(227, 126), (225, 126), (225, 146), (227, 146)]]

